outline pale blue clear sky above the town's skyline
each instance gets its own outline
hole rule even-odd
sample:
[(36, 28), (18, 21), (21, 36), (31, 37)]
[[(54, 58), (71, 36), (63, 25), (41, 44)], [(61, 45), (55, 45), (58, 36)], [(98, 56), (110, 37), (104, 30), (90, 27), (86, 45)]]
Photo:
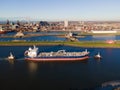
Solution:
[(120, 21), (120, 0), (0, 0), (0, 20)]

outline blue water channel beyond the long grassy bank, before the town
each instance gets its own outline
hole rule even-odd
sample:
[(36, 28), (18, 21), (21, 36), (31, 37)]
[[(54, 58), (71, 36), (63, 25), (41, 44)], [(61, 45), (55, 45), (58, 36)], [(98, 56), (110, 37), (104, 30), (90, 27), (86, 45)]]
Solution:
[[(76, 32), (79, 33), (79, 32)], [(23, 37), (23, 38), (15, 38), (15, 37), (8, 37), (2, 38), (2, 36), (14, 36), (16, 32), (1, 34), (0, 41), (12, 41), (12, 40), (26, 40), (26, 41), (66, 41), (65, 37), (60, 37), (59, 35), (64, 35), (66, 32), (32, 32), (32, 33), (25, 33), (25, 34), (40, 34), (44, 36), (34, 36), (34, 37)], [(104, 40), (120, 40), (120, 35), (117, 36), (105, 36), (105, 35), (97, 35), (97, 36), (79, 36), (77, 37), (79, 41), (104, 41)]]

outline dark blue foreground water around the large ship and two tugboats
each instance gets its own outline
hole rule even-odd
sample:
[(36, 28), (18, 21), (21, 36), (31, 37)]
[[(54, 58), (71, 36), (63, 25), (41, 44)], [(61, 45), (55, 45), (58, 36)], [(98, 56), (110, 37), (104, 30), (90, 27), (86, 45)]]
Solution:
[[(28, 46), (0, 46), (0, 90), (113, 90), (120, 80), (119, 48), (81, 48), (72, 46), (39, 46), (39, 52), (65, 49), (78, 52), (87, 49), (90, 58), (70, 62), (27, 62)], [(15, 61), (7, 60), (12, 52)], [(102, 59), (94, 59), (100, 52)]]

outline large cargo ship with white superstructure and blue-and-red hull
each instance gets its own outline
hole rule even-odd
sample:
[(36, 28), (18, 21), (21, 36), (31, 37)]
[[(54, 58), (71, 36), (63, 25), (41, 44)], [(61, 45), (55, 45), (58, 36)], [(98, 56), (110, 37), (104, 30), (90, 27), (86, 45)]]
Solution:
[(25, 60), (27, 61), (81, 61), (89, 58), (89, 52), (85, 49), (82, 52), (66, 52), (65, 50), (58, 50), (57, 52), (41, 52), (38, 54), (38, 48), (29, 47), (24, 52)]

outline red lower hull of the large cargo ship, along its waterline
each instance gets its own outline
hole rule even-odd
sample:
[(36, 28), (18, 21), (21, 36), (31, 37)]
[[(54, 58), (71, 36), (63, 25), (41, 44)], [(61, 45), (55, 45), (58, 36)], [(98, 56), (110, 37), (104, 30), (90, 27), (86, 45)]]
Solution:
[(41, 62), (41, 61), (82, 61), (87, 60), (89, 56), (83, 56), (83, 57), (35, 57), (35, 58), (25, 58), (27, 61), (35, 61), (35, 62)]

